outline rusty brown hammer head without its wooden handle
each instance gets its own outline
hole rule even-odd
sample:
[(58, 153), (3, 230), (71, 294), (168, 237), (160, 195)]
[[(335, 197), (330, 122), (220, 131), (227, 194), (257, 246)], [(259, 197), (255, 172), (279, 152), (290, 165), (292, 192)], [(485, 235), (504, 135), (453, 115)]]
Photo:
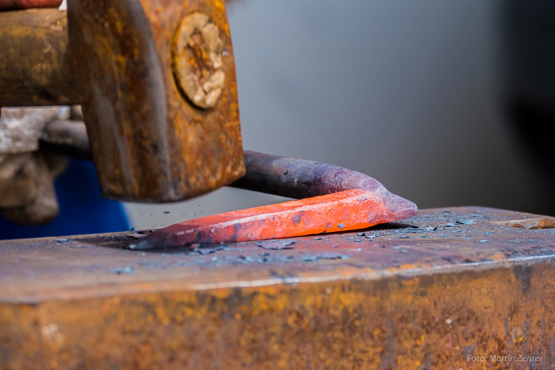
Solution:
[(178, 201), (243, 176), (223, 1), (69, 0), (68, 28), (105, 197)]

